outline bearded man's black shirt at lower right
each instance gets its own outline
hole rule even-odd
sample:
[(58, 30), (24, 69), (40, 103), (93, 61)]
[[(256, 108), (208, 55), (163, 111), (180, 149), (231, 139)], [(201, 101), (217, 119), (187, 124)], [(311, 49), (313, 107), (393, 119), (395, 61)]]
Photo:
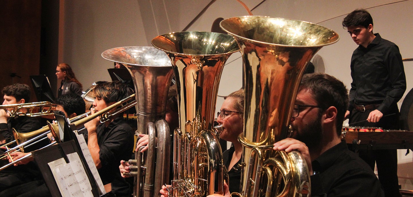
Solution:
[(348, 150), (345, 141), (311, 162), (311, 196), (381, 197), (379, 180), (366, 162)]

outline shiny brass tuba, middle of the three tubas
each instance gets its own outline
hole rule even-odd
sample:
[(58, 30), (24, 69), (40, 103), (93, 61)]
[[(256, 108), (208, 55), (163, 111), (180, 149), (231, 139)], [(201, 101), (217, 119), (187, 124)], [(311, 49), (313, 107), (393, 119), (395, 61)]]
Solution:
[[(218, 130), (213, 128), (216, 96), (223, 66), (239, 51), (230, 35), (174, 32), (152, 39), (173, 65), (177, 83), (179, 128), (173, 139), (173, 197), (223, 194), (223, 167)], [(228, 178), (226, 178), (228, 179)]]

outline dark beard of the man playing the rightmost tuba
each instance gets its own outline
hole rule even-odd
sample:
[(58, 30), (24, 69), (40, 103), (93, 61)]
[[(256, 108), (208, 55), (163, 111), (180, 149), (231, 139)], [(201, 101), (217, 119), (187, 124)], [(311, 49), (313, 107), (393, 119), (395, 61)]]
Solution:
[(312, 149), (320, 146), (322, 137), (321, 114), (318, 114), (318, 118), (306, 125), (301, 132), (298, 132), (295, 139), (304, 142), (309, 149)]

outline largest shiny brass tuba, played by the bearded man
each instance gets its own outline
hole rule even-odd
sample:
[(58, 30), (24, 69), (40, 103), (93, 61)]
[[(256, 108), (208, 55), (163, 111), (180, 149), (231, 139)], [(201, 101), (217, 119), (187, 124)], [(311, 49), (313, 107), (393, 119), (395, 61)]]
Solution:
[(307, 63), (321, 47), (337, 42), (320, 25), (266, 16), (221, 21), (240, 46), (244, 65), (243, 197), (310, 196), (305, 160), (297, 151), (273, 151), (290, 137), (290, 117)]

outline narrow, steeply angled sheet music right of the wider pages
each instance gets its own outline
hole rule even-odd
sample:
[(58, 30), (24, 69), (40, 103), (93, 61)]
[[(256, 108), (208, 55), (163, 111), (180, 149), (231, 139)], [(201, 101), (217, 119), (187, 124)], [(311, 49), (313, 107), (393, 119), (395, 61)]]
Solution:
[(86, 162), (88, 163), (88, 166), (90, 168), (90, 171), (93, 174), (93, 178), (95, 178), (97, 187), (99, 188), (99, 192), (100, 195), (106, 193), (105, 189), (104, 189), (104, 185), (102, 183), (102, 179), (100, 179), (100, 175), (99, 172), (97, 172), (97, 168), (95, 166), (95, 162), (93, 162), (93, 158), (92, 155), (90, 155), (90, 151), (88, 148), (88, 144), (85, 141), (85, 138), (83, 137), (83, 134), (78, 134), (77, 131), (76, 133), (76, 137), (79, 141), (80, 147), (82, 149), (83, 155), (85, 157)]

